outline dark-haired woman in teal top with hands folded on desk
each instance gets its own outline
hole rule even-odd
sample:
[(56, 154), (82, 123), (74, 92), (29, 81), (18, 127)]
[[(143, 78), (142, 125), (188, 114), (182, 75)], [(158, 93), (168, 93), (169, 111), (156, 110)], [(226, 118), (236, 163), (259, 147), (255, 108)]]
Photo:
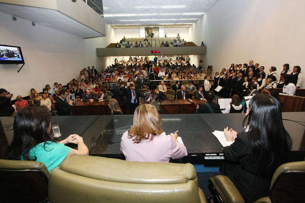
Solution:
[[(45, 106), (30, 105), (22, 108), (14, 121), (14, 137), (6, 149), (5, 159), (38, 161), (51, 172), (70, 154), (88, 155), (88, 148), (79, 135), (69, 135), (59, 141), (50, 135), (51, 117)], [(78, 149), (65, 146), (77, 144)]]

